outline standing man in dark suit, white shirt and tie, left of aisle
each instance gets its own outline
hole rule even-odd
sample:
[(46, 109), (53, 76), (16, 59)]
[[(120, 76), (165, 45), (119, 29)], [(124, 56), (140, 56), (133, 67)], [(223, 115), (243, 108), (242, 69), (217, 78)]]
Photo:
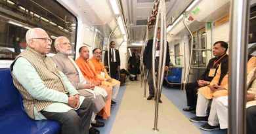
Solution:
[[(117, 71), (120, 70), (120, 56), (119, 51), (115, 49), (115, 42), (110, 42), (110, 76), (116, 78)], [(108, 52), (105, 53), (105, 63), (108, 65)]]

